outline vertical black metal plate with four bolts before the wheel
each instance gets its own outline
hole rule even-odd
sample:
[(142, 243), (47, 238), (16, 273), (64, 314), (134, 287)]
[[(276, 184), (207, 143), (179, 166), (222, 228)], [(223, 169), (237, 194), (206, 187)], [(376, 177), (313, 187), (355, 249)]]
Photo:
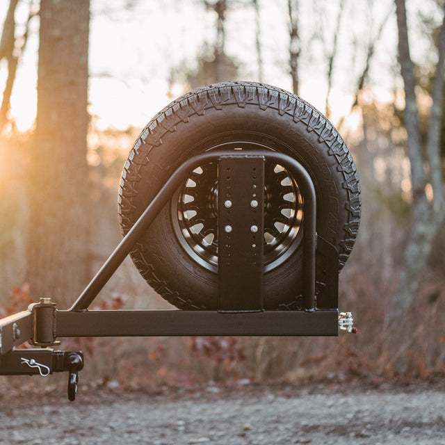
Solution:
[(262, 311), (264, 156), (218, 162), (218, 310)]

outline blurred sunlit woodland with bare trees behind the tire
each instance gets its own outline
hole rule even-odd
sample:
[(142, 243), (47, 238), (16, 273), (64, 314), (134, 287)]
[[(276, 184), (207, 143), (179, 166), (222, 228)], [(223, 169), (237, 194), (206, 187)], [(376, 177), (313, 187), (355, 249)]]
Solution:
[[(444, 373), (443, 0), (10, 0), (0, 23), (0, 316), (42, 296), (67, 307), (102, 265), (152, 115), (208, 83), (261, 81), (327, 115), (357, 164), (362, 224), (339, 301), (359, 333), (63, 348), (86, 352), (90, 381), (122, 386)], [(131, 261), (97, 305), (169, 307)]]

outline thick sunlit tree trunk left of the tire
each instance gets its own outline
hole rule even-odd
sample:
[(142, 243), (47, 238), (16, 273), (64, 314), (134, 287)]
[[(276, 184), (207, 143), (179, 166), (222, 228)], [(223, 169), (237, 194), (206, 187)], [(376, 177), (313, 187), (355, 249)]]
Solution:
[(33, 298), (66, 305), (88, 282), (89, 0), (42, 0), (38, 111), (29, 163)]

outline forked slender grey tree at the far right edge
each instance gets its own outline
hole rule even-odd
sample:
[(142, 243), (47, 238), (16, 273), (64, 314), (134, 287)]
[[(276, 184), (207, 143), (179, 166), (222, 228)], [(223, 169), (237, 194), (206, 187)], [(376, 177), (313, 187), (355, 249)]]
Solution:
[(442, 119), (442, 93), (445, 58), (445, 6), (444, 21), (439, 35), (438, 62), (432, 92), (432, 107), (428, 127), (428, 167), (434, 183), (432, 204), (426, 196), (427, 177), (423, 168), (419, 109), (416, 102), (416, 76), (410, 56), (405, 0), (395, 0), (398, 28), (398, 59), (405, 88), (405, 128), (407, 131), (407, 154), (411, 165), (412, 215), (410, 237), (403, 255), (403, 264), (398, 286), (391, 298), (389, 319), (401, 320), (412, 304), (419, 289), (423, 266), (432, 248), (432, 241), (444, 219), (444, 188), (439, 163), (440, 122)]

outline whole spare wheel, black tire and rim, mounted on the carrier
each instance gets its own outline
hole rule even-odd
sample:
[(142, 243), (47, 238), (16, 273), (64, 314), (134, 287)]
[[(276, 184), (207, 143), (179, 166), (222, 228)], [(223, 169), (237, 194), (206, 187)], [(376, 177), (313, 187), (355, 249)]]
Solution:
[[(266, 148), (288, 154), (309, 172), (316, 190), (318, 235), (334, 245), (341, 270), (360, 218), (360, 188), (353, 159), (332, 124), (300, 97), (250, 82), (218, 83), (180, 97), (143, 129), (122, 172), (122, 234), (138, 220), (161, 186), (186, 159), (219, 147)], [(298, 309), (304, 215), (298, 184), (281, 165), (266, 161), (264, 307)], [(217, 309), (218, 199), (216, 165), (190, 172), (147, 229), (131, 258), (165, 300), (181, 309)], [(321, 264), (321, 265), (320, 265)]]

